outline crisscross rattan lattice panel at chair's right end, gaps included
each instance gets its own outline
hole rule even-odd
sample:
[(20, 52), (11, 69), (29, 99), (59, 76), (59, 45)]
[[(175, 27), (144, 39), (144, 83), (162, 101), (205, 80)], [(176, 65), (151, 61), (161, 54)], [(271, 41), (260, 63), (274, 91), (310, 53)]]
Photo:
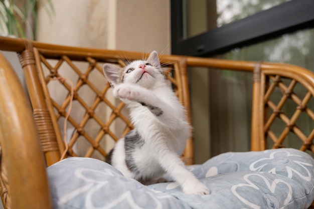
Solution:
[[(314, 152), (314, 98), (294, 79), (269, 75), (264, 95), (264, 133), (268, 148), (294, 147)], [(301, 139), (295, 142), (295, 138)], [(272, 144), (272, 145), (271, 145)]]

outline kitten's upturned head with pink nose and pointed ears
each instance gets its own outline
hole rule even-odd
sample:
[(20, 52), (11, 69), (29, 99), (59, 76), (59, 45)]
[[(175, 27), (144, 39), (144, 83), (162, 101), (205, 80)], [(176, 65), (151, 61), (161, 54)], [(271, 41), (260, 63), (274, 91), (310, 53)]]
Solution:
[(126, 83), (151, 89), (166, 81), (156, 52), (152, 52), (146, 61), (133, 61), (123, 69), (105, 64), (103, 70), (113, 87), (119, 83)]

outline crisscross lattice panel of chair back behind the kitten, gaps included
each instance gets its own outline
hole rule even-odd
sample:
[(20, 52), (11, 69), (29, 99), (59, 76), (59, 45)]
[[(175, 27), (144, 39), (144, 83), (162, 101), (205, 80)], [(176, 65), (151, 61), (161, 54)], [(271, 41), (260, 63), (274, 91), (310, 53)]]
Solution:
[[(118, 57), (71, 56), (73, 52), (54, 52), (52, 56), (47, 50), (36, 53), (40, 60), (38, 70), (47, 105), (50, 113), (55, 114), (53, 121), (57, 121), (60, 130), (63, 130), (63, 121), (71, 101), (72, 87), (64, 78), (73, 83), (72, 110), (67, 122), (67, 154), (103, 160), (115, 141), (132, 129), (132, 125), (124, 103), (112, 96), (112, 88), (103, 76), (102, 65), (108, 62), (123, 67), (126, 63)], [(176, 63), (162, 65), (166, 77), (182, 100), (178, 91), (181, 86), (179, 66)], [(62, 140), (61, 136), (57, 138)]]

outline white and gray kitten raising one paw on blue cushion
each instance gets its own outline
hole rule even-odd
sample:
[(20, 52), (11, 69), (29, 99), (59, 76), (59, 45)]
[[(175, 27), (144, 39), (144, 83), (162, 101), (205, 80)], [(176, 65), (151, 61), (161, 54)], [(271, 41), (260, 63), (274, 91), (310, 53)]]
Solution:
[(141, 182), (166, 172), (185, 193), (209, 194), (180, 159), (191, 127), (162, 72), (158, 54), (154, 51), (146, 61), (133, 61), (124, 69), (105, 64), (103, 71), (113, 95), (128, 106), (134, 125), (109, 153), (112, 166)]

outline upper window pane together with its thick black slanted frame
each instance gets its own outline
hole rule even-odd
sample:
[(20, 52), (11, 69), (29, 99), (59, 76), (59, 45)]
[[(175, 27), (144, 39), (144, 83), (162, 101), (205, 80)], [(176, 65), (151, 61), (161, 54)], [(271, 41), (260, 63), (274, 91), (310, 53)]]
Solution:
[[(172, 54), (213, 56), (313, 27), (312, 11), (312, 0), (172, 0)], [(200, 23), (190, 23), (195, 14)], [(191, 37), (192, 24), (205, 30)]]

